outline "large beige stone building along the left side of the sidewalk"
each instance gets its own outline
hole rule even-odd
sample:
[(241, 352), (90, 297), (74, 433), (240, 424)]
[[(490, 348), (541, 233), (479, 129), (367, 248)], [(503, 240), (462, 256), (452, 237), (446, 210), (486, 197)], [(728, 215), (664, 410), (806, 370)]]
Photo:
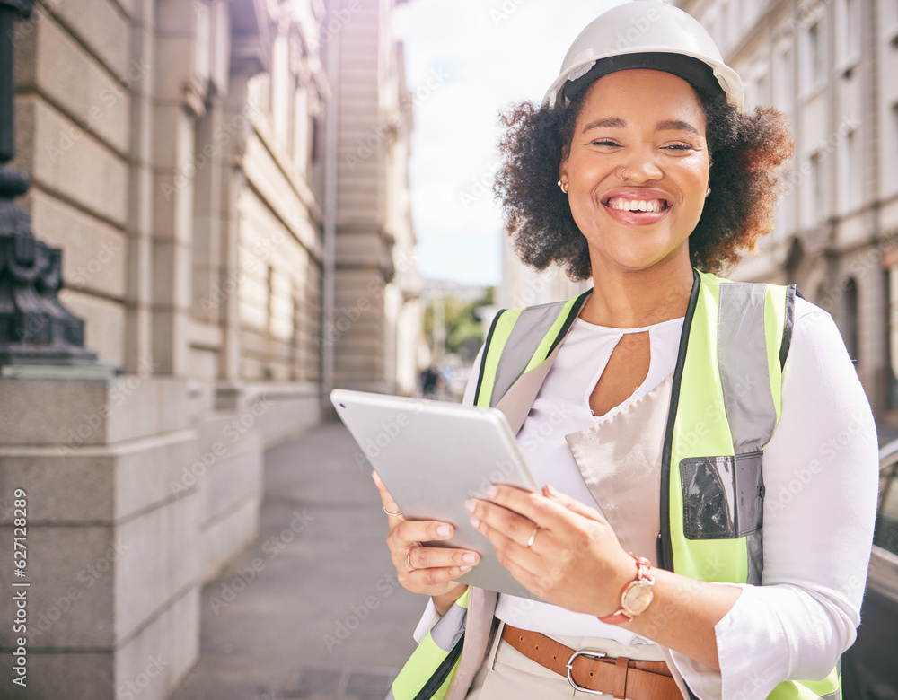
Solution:
[[(22, 206), (101, 361), (0, 368), (3, 551), (7, 499), (28, 501), (22, 697), (169, 696), (203, 582), (258, 530), (265, 448), (335, 386), (411, 393), (395, 2), (38, 0), (16, 25)], [(20, 645), (3, 626), (4, 657)]]

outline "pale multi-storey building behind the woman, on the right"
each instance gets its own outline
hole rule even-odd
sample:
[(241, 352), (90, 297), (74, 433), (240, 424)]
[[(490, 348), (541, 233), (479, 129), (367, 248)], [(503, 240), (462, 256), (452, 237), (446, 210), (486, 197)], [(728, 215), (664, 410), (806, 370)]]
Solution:
[(898, 426), (898, 5), (681, 0), (771, 104), (796, 153), (774, 232), (731, 275), (797, 283), (832, 313), (884, 435)]

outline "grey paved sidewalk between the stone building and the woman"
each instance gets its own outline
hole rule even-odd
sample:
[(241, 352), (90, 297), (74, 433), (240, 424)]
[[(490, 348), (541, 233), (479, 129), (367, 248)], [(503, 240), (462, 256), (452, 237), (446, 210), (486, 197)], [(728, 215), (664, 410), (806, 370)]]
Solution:
[(415, 647), (356, 442), (323, 424), (266, 454), (260, 537), (201, 594), (200, 660), (173, 700), (382, 697)]

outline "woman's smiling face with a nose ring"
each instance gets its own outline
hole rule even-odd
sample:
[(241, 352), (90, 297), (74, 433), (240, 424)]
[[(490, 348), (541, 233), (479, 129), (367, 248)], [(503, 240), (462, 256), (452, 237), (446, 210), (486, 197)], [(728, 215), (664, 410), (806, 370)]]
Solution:
[(561, 181), (594, 277), (689, 267), (709, 179), (705, 113), (676, 75), (625, 70), (586, 92)]

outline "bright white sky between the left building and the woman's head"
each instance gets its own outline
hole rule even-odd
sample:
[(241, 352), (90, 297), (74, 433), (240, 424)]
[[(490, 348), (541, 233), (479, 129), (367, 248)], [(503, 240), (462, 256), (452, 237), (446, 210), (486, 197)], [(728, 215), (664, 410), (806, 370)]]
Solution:
[(409, 179), (418, 268), (497, 284), (498, 113), (541, 102), (577, 34), (620, 0), (410, 0), (393, 18), (415, 103)]

